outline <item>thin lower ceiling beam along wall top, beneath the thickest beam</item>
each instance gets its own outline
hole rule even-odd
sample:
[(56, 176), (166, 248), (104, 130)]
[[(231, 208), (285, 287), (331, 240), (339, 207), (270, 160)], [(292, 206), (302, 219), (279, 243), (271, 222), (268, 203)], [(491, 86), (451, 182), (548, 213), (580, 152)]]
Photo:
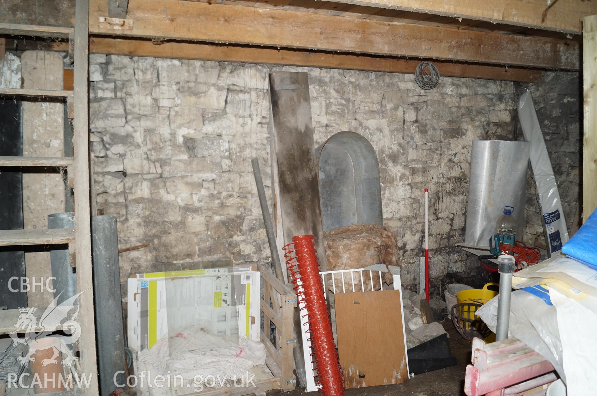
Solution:
[[(8, 48), (27, 51), (67, 51), (66, 42), (8, 40)], [(349, 70), (382, 71), (413, 74), (418, 60), (379, 57), (376, 55), (332, 54), (304, 49), (219, 45), (211, 43), (164, 42), (159, 45), (147, 39), (95, 37), (90, 39), (92, 54), (130, 55), (137, 57), (194, 59), (288, 66), (327, 67)], [(519, 67), (434, 61), (442, 76), (473, 79), (537, 82), (543, 71)], [(67, 89), (67, 88), (64, 88)]]

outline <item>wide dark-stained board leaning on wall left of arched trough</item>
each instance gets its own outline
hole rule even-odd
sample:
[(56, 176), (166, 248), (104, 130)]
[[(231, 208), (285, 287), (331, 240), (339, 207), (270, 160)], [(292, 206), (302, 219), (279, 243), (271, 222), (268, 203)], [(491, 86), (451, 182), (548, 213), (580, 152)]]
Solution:
[[(315, 236), (321, 269), (327, 269), (319, 184), (315, 167), (315, 143), (307, 73), (275, 71), (270, 86), (270, 155), (274, 218), (279, 248), (296, 235)], [(284, 257), (281, 251), (280, 257)], [(297, 347), (294, 348), (297, 379), (306, 386), (303, 339), (298, 309), (294, 310)]]

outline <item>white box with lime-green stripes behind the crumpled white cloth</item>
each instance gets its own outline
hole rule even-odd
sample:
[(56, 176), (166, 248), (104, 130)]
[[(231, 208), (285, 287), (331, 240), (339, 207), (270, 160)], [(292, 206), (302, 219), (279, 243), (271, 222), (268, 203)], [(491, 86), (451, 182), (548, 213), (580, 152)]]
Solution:
[(133, 351), (192, 325), (260, 341), (260, 275), (251, 267), (137, 274), (128, 279), (127, 295)]

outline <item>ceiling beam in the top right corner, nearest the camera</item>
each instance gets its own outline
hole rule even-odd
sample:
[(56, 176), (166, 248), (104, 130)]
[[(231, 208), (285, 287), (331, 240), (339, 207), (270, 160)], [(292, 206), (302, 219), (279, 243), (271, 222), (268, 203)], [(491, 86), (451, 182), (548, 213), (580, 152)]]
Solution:
[(597, 3), (583, 0), (327, 0), (353, 5), (473, 19), (491, 23), (553, 30), (574, 35), (582, 33), (581, 22), (597, 14)]

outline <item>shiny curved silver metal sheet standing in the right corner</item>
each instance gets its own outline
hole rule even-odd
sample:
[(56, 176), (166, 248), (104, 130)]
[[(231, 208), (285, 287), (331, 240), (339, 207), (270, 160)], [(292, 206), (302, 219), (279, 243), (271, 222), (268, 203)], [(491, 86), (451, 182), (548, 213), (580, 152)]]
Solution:
[(488, 246), (506, 205), (514, 207), (516, 239), (522, 240), (530, 146), (519, 141), (473, 141), (464, 244)]

